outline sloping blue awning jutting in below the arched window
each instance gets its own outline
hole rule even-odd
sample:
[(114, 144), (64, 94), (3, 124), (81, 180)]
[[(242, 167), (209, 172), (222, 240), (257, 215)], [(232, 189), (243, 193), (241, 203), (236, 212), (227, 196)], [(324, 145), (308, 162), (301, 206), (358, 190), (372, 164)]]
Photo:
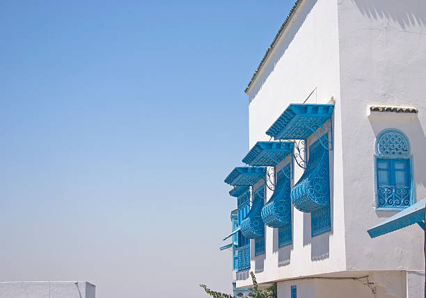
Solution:
[(387, 220), (374, 226), (368, 230), (368, 234), (371, 238), (378, 237), (393, 231), (410, 226), (411, 224), (419, 224), (422, 229), (425, 229), (425, 206), (426, 199), (418, 201), (413, 206), (407, 207), (399, 213), (389, 217)]

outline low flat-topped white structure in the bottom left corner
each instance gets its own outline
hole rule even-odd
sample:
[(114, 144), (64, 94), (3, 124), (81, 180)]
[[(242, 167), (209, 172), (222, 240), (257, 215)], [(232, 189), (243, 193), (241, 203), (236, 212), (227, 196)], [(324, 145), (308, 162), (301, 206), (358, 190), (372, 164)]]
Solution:
[(86, 281), (0, 282), (0, 298), (95, 298), (95, 285)]

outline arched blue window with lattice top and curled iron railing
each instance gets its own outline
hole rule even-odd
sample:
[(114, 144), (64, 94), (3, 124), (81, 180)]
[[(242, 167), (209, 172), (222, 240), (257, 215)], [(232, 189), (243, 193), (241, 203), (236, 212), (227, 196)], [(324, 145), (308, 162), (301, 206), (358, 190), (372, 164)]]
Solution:
[(400, 210), (413, 203), (410, 142), (397, 129), (385, 129), (376, 139), (374, 155), (376, 208)]

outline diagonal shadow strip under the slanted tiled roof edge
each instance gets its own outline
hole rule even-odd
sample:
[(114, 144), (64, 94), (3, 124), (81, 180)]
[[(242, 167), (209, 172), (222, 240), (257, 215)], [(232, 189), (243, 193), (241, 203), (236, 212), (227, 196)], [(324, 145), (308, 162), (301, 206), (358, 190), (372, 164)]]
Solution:
[[(283, 56), (285, 51), (287, 51), (288, 46), (294, 39), (294, 36), (296, 35), (297, 31), (299, 31), (299, 28), (301, 27), (303, 22), (305, 22), (306, 17), (310, 13), (310, 10), (312, 10), (312, 8), (315, 6), (315, 3), (317, 3), (317, 0), (308, 0), (308, 3), (306, 3), (306, 5), (302, 8), (299, 17), (297, 17), (296, 22), (294, 22), (294, 24), (290, 28), (290, 31), (287, 33), (287, 36), (285, 37), (285, 40), (283, 40), (283, 43), (276, 45), (275, 49), (277, 52), (276, 54), (274, 54), (273, 57), (270, 57), (273, 59), (268, 63), (268, 66), (265, 67), (262, 72), (262, 75), (259, 76), (260, 83), (256, 85), (257, 88), (253, 89), (253, 94), (249, 99), (249, 103), (256, 96), (256, 94), (258, 94), (260, 88), (265, 83), (265, 81), (267, 81), (269, 74), (271, 74), (271, 72), (274, 72), (276, 63), (278, 63), (278, 60), (280, 60), (281, 56)], [(254, 87), (255, 85), (253, 85), (253, 88)]]

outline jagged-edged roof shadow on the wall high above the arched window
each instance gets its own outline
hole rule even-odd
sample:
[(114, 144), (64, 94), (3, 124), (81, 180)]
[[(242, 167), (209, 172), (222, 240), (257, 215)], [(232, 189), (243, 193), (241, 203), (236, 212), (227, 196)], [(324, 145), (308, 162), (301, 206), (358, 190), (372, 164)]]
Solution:
[(401, 28), (420, 24), (426, 24), (425, 1), (371, 1), (352, 0), (363, 15), (372, 19), (391, 19), (397, 22)]

